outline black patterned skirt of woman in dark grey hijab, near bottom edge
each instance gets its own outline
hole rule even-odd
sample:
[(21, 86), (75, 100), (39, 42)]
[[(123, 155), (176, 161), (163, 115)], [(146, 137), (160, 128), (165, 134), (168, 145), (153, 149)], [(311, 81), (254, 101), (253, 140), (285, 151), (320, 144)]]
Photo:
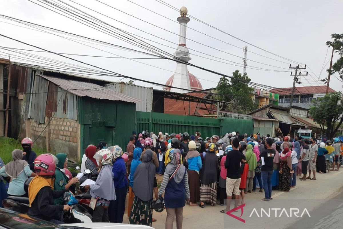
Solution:
[(153, 202), (142, 201), (137, 196), (133, 198), (133, 206), (130, 213), (129, 224), (139, 224), (150, 226), (152, 224)]

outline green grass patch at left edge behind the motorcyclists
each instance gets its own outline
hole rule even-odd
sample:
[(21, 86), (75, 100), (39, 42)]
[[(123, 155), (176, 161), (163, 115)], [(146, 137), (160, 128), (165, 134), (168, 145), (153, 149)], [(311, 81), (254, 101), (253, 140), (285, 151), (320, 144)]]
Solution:
[[(19, 140), (13, 138), (0, 137), (0, 157), (5, 164), (12, 161), (12, 151), (15, 149), (23, 150)], [(46, 150), (33, 147), (33, 151), (36, 152), (37, 156), (46, 153)]]

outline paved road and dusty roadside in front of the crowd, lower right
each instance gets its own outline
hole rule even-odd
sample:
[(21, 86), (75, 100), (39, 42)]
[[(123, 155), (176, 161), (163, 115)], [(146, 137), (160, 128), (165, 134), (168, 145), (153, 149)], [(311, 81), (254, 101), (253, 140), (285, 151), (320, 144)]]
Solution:
[[(246, 206), (243, 208), (244, 213), (241, 217), (246, 220), (245, 224), (233, 217), (220, 213), (219, 211), (223, 209), (222, 206), (211, 207), (207, 205), (202, 209), (186, 205), (183, 214), (183, 228), (343, 228), (342, 188), (342, 168), (339, 172), (317, 174), (317, 181), (299, 181), (297, 177), (296, 188), (292, 189), (289, 193), (273, 191), (273, 200), (270, 202), (261, 201), (264, 193), (248, 193), (246, 195)], [(253, 208), (256, 209), (258, 214), (255, 211), (251, 214)], [(267, 213), (269, 208), (280, 208), (280, 210), (276, 210), (275, 214), (275, 210), (271, 209), (269, 217), (268, 214), (262, 214), (261, 217), (261, 208), (267, 211)], [(283, 212), (280, 216), (283, 208), (285, 208), (288, 214)], [(290, 208), (298, 208), (300, 211), (298, 215), (301, 215), (306, 208), (308, 214), (305, 213), (301, 218), (295, 217), (293, 213), (296, 210), (293, 210), (292, 216), (287, 217), (290, 214)], [(241, 213), (233, 214), (240, 217)], [(165, 228), (165, 210), (162, 213), (154, 211), (153, 217), (157, 219), (157, 222), (154, 222), (152, 225), (154, 228)], [(123, 222), (128, 222), (127, 216), (124, 216)], [(176, 228), (175, 221), (174, 228)]]

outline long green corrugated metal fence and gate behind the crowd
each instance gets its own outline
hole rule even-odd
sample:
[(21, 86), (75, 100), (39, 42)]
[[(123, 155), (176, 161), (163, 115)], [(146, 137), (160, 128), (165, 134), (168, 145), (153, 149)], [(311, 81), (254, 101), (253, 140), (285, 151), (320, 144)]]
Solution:
[(234, 118), (204, 118), (196, 116), (182, 116), (162, 113), (137, 112), (136, 117), (137, 133), (143, 130), (158, 133), (184, 133), (194, 135), (200, 131), (202, 137), (212, 137), (212, 135), (224, 135), (232, 131), (249, 133), (253, 131), (253, 121)]

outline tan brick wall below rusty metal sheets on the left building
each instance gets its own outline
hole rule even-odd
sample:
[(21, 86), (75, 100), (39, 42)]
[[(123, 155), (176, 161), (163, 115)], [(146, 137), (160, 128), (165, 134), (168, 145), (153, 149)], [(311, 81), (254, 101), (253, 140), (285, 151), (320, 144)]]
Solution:
[[(30, 129), (28, 135), (33, 140), (37, 139), (44, 130), (49, 118), (45, 118), (45, 123), (37, 124), (33, 118), (28, 120)], [(79, 159), (79, 123), (68, 118), (52, 118), (49, 126), (35, 142), (38, 147), (47, 149), (52, 153), (67, 153), (68, 157)]]

